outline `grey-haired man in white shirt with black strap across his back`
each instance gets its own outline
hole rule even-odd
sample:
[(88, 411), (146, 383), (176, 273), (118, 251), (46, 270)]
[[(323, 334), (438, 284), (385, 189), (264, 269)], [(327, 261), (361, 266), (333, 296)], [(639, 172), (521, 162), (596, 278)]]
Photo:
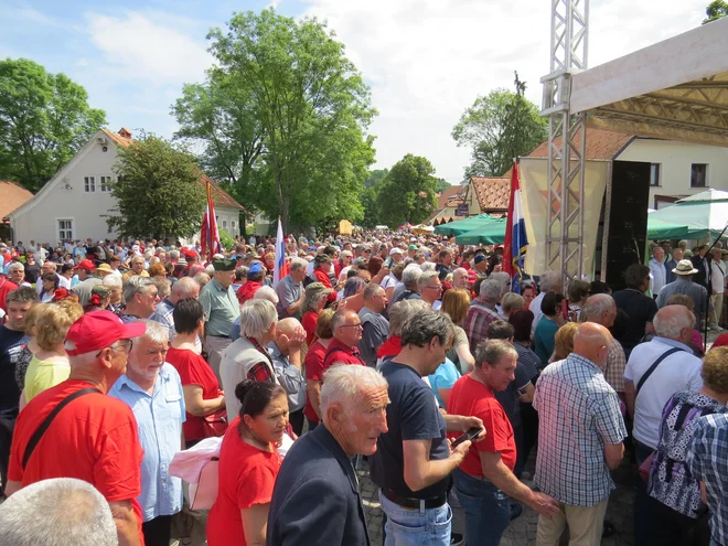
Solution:
[(670, 397), (678, 390), (697, 390), (703, 386), (703, 363), (688, 346), (695, 315), (684, 306), (666, 306), (657, 311), (652, 324), (655, 336), (632, 350), (624, 370), (624, 395), (627, 410), (634, 421), (632, 435), (638, 464), (657, 448), (662, 410)]

